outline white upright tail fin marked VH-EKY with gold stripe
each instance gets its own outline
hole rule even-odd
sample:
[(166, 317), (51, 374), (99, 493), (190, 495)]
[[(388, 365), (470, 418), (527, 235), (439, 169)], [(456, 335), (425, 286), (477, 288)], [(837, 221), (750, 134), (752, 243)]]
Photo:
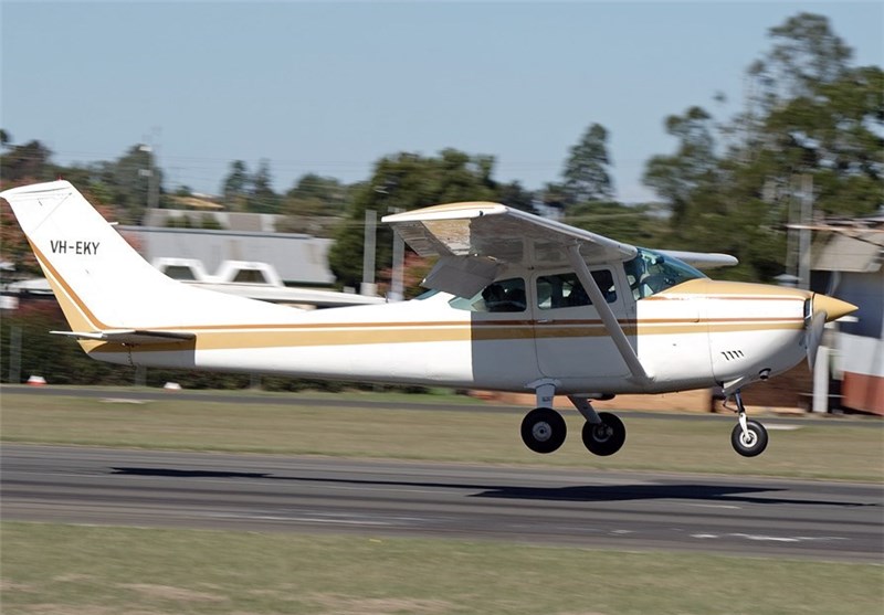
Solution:
[(280, 306), (166, 277), (66, 181), (14, 188), (0, 197), (12, 206), (73, 331), (180, 330), (242, 322), (246, 314), (248, 320), (281, 314)]

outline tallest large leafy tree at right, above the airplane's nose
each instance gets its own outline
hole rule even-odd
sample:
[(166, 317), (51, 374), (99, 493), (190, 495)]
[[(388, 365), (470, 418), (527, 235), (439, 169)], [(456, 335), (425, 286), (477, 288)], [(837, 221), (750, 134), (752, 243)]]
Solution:
[[(821, 15), (798, 14), (769, 34), (772, 49), (748, 68), (747, 108), (722, 127), (699, 107), (670, 117), (678, 148), (651, 158), (644, 174), (671, 208), (673, 247), (736, 255), (740, 265), (723, 272), (732, 278), (782, 273), (800, 176), (812, 177), (825, 213), (871, 213), (882, 203), (882, 70), (851, 66), (850, 47)], [(730, 139), (723, 151), (716, 134)]]

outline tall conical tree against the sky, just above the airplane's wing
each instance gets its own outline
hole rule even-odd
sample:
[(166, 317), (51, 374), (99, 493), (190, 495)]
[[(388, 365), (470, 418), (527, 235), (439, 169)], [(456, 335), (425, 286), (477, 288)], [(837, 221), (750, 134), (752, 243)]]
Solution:
[(577, 145), (571, 147), (561, 173), (569, 204), (613, 198), (607, 141), (608, 130), (599, 124), (592, 124)]

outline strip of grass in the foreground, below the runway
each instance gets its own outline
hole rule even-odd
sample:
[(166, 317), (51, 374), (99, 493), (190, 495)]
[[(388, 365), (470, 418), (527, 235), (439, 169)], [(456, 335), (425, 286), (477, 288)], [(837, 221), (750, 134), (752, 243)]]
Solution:
[(3, 523), (4, 615), (880, 613), (884, 568), (460, 540)]

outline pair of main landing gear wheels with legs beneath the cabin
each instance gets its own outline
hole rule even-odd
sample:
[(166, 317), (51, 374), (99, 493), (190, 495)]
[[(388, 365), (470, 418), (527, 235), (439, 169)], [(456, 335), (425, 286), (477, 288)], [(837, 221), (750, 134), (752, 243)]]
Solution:
[[(537, 389), (537, 401), (551, 404), (552, 391)], [(547, 394), (548, 393), (548, 394)], [(627, 427), (617, 415), (610, 412), (596, 412), (586, 397), (569, 396), (571, 403), (587, 420), (583, 424), (583, 446), (593, 455), (613, 455), (627, 442)], [(522, 439), (535, 453), (552, 453), (565, 442), (568, 428), (561, 414), (551, 407), (537, 407), (522, 421)]]

